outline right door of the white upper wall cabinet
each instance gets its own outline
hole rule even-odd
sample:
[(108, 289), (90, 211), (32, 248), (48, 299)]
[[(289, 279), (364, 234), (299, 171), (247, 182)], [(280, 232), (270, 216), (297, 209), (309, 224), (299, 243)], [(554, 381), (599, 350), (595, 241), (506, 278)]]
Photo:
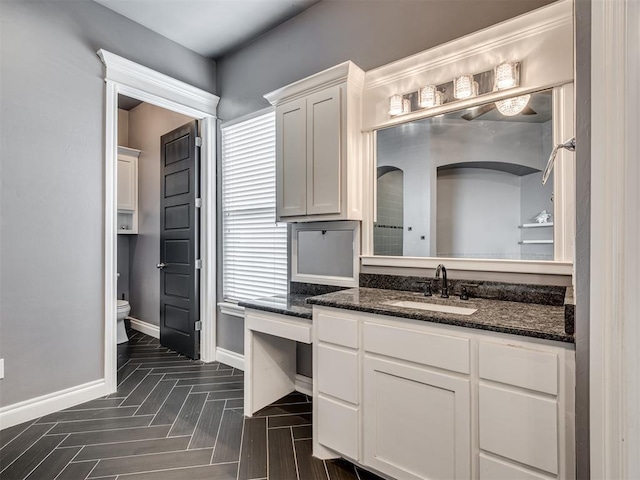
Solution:
[(340, 213), (341, 88), (307, 97), (307, 214)]

